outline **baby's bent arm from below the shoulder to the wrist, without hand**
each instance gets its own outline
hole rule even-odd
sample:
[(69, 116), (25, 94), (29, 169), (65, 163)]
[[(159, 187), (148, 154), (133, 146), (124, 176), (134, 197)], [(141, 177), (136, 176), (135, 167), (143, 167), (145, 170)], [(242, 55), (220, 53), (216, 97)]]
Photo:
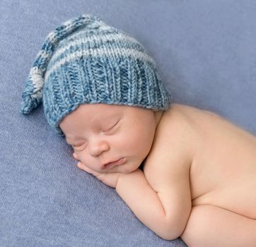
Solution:
[[(176, 138), (175, 138), (176, 137)], [(136, 217), (163, 239), (176, 239), (184, 231), (191, 211), (191, 152), (178, 136), (156, 143), (146, 159), (144, 173), (121, 175), (116, 191)]]

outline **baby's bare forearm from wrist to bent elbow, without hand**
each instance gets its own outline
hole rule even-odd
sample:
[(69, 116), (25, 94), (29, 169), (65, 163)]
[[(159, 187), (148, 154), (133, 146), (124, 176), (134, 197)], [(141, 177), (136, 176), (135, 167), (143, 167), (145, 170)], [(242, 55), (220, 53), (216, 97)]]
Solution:
[(163, 239), (176, 239), (178, 234), (165, 215), (158, 193), (153, 191), (143, 171), (122, 174), (115, 188), (141, 222)]

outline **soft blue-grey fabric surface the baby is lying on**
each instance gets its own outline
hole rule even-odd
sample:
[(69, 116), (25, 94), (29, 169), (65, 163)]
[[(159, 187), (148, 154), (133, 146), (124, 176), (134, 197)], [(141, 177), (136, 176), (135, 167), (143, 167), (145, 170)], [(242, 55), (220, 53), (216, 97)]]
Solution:
[(1, 0), (0, 246), (185, 246), (153, 234), (80, 171), (42, 107), (19, 114), (25, 78), (50, 31), (91, 13), (144, 44), (175, 102), (256, 133), (255, 12), (253, 0)]

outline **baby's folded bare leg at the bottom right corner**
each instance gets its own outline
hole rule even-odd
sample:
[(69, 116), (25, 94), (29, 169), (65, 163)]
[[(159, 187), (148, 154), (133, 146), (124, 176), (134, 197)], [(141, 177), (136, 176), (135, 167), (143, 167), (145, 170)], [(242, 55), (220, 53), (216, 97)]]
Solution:
[(255, 247), (256, 219), (214, 205), (197, 205), (180, 238), (189, 247)]

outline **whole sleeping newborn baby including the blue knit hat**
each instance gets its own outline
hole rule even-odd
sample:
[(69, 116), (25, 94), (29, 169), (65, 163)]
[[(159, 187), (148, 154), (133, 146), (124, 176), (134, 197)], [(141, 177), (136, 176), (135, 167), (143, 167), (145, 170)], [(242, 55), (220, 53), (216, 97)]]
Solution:
[(40, 102), (78, 168), (115, 188), (161, 238), (256, 246), (255, 136), (174, 104), (134, 38), (95, 16), (63, 23), (37, 54), (21, 112)]

